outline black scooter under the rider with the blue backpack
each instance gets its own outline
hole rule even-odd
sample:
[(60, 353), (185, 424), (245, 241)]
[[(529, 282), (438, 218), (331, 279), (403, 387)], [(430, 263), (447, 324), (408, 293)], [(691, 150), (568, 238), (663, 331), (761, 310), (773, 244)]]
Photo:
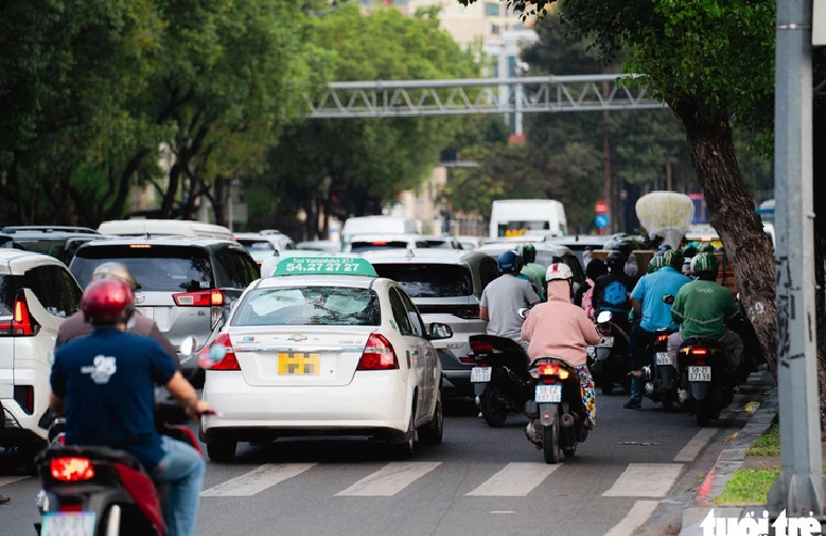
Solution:
[(590, 373), (594, 384), (603, 395), (613, 393), (615, 384), (631, 391), (631, 336), (618, 323), (612, 322), (613, 315), (602, 311), (597, 317), (602, 342), (588, 347), (589, 362), (594, 365)]

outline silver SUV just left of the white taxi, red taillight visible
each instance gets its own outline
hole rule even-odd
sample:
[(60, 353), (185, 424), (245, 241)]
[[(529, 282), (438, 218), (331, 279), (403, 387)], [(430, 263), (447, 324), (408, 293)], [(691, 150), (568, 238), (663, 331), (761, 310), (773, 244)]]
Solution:
[[(176, 347), (187, 335), (206, 344), (223, 322), (225, 306), (259, 278), (250, 253), (234, 241), (192, 237), (144, 237), (96, 241), (77, 250), (69, 265), (81, 285), (94, 269), (114, 260), (138, 281), (135, 306), (153, 319)], [(181, 358), (181, 370), (198, 386), (198, 362)]]

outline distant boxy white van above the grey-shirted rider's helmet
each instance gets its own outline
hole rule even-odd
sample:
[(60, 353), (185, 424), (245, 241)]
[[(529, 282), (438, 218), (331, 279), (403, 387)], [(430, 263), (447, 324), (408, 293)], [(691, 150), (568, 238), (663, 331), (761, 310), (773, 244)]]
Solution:
[[(491, 207), (491, 238), (568, 234), (566, 209), (554, 200), (496, 200)], [(537, 238), (542, 240), (542, 238)]]

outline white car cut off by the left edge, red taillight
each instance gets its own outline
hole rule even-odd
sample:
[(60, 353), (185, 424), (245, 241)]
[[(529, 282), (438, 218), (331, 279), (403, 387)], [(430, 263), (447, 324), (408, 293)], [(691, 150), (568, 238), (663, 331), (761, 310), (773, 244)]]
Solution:
[(31, 452), (45, 445), (54, 340), (81, 295), (56, 258), (0, 250), (0, 447)]

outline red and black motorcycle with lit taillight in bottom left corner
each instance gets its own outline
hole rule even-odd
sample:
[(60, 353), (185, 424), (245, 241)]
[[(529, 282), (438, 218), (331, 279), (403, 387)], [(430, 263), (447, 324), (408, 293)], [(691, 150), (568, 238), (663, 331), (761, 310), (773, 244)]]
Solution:
[[(206, 413), (217, 414), (213, 410)], [(155, 405), (157, 432), (190, 444), (203, 457), (194, 434), (181, 424), (188, 420), (177, 404)], [(42, 515), (41, 522), (35, 524), (37, 533), (163, 536), (168, 485), (156, 486), (129, 452), (101, 446), (65, 446), (65, 422), (62, 418), (53, 420), (49, 446), (35, 459), (42, 484), (37, 497)]]

